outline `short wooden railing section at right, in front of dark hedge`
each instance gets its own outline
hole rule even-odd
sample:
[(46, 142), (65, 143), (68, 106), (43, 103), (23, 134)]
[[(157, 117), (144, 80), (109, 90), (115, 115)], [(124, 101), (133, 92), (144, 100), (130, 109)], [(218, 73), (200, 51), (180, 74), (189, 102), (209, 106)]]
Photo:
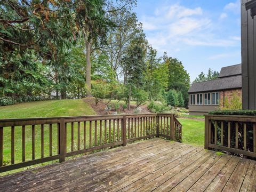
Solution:
[(205, 149), (256, 157), (256, 117), (205, 115)]

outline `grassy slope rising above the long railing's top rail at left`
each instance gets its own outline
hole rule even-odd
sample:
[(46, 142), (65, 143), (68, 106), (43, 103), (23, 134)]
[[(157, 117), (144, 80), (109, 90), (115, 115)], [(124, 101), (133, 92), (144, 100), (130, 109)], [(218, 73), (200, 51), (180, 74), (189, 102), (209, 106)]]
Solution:
[(94, 115), (93, 109), (82, 99), (51, 100), (19, 103), (0, 107), (0, 119), (26, 117), (58, 117)]

